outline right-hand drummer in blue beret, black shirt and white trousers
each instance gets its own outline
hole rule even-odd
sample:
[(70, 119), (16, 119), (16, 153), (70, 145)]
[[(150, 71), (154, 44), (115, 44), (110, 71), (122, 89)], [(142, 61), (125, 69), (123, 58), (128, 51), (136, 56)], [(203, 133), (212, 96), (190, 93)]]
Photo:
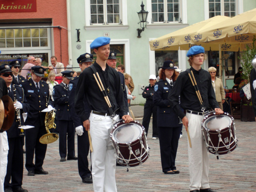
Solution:
[[(189, 57), (188, 61), (191, 66), (189, 70), (193, 71), (204, 107), (206, 110), (213, 108), (217, 115), (223, 113), (215, 99), (211, 76), (208, 71), (201, 68), (205, 59), (204, 47), (191, 47), (187, 52), (187, 57)], [(187, 71), (180, 73), (168, 100), (190, 134), (192, 144), (192, 148), (188, 147), (190, 192), (215, 192), (209, 186), (209, 157), (201, 131), (203, 113), (188, 74)], [(186, 110), (186, 115), (180, 109), (179, 96), (181, 108)]]

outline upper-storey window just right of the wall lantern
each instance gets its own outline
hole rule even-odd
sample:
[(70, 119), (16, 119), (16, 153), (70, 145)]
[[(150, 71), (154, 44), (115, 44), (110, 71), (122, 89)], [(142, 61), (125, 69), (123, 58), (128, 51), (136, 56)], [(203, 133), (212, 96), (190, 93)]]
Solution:
[(179, 0), (151, 0), (152, 23), (154, 22), (179, 22)]

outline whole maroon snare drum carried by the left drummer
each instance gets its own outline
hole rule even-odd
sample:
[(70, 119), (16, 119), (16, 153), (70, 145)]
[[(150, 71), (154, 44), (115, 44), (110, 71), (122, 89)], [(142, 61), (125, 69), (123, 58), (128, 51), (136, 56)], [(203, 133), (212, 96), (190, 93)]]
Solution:
[(122, 119), (119, 120), (113, 124), (110, 138), (120, 165), (134, 167), (148, 159), (149, 148), (145, 128), (139, 122), (124, 123)]

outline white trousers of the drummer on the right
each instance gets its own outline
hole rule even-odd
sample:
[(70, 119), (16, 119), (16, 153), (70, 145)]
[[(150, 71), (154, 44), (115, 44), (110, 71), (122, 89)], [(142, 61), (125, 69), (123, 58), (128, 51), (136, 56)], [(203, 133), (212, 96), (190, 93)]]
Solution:
[(189, 147), (189, 190), (209, 188), (209, 156), (201, 130), (203, 116), (186, 113), (189, 120), (189, 135), (192, 148)]

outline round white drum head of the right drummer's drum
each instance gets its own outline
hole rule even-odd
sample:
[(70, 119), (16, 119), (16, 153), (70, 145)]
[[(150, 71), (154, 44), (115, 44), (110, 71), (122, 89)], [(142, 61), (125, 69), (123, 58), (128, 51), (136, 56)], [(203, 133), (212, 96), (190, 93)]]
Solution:
[(211, 131), (222, 130), (232, 123), (232, 119), (227, 115), (211, 116), (204, 122), (204, 128)]

